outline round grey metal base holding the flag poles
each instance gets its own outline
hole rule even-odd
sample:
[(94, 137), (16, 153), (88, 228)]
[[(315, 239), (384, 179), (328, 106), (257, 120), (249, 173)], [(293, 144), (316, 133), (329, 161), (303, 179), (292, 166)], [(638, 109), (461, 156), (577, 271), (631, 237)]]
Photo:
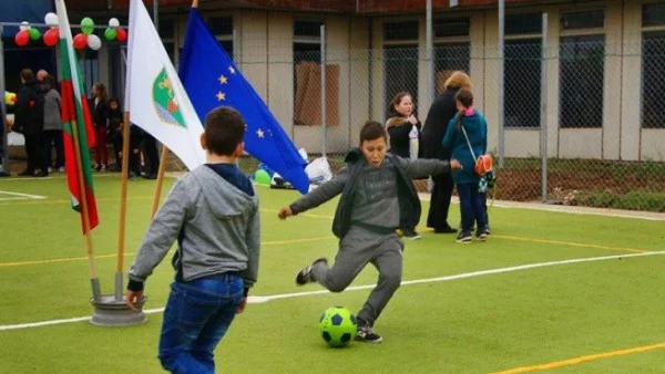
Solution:
[(143, 304), (146, 298), (136, 303), (139, 311), (131, 310), (123, 300), (116, 300), (113, 294), (102, 295), (100, 300), (90, 299), (90, 303), (94, 307), (90, 323), (95, 326), (131, 326), (147, 322), (147, 318), (143, 312)]

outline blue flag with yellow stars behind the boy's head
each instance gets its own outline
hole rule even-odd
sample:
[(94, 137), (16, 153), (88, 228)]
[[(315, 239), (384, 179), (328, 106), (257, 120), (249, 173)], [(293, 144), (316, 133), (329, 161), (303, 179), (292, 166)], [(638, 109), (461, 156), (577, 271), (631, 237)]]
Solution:
[(235, 108), (247, 123), (245, 149), (300, 193), (307, 193), (307, 162), (222, 49), (196, 8), (190, 11), (178, 74), (202, 123), (219, 105)]

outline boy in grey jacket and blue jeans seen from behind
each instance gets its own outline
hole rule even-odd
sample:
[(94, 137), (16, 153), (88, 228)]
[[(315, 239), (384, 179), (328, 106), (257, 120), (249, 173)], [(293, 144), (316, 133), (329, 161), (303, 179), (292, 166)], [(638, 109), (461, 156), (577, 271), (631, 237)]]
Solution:
[(208, 113), (201, 145), (207, 163), (173, 186), (130, 269), (126, 302), (142, 299), (143, 283), (177, 240), (175, 281), (164, 311), (158, 356), (172, 373), (214, 373), (214, 350), (256, 282), (258, 199), (236, 166), (245, 121), (231, 107)]

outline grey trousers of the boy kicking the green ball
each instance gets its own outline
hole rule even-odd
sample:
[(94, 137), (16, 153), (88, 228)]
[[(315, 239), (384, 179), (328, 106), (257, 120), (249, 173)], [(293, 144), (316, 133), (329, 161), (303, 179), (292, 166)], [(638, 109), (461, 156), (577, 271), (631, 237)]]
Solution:
[(379, 271), (379, 280), (357, 314), (374, 325), (401, 282), (402, 250), (403, 242), (395, 233), (378, 235), (351, 227), (339, 241), (339, 251), (332, 267), (328, 268), (326, 263), (317, 262), (311, 273), (314, 279), (329, 291), (341, 292), (367, 263), (374, 264)]

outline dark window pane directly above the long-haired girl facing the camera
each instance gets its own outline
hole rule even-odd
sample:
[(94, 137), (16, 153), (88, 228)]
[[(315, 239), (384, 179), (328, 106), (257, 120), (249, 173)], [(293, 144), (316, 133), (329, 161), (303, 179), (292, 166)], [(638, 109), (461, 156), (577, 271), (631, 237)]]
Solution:
[(409, 92), (418, 102), (418, 45), (386, 45), (383, 61), (388, 116), (388, 102), (400, 91)]

